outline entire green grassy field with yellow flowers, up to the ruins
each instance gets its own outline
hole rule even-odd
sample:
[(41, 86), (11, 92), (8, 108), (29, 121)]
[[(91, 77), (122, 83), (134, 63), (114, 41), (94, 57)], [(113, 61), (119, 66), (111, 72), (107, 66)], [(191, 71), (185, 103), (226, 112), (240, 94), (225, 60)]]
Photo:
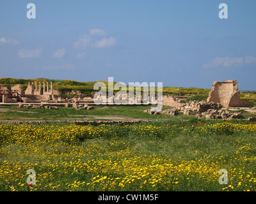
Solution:
[[(0, 191), (255, 191), (255, 123), (150, 115), (147, 108), (1, 106)], [(6, 124), (95, 117), (148, 122)], [(27, 180), (29, 169), (36, 172), (35, 185)], [(221, 169), (228, 184), (219, 183)]]

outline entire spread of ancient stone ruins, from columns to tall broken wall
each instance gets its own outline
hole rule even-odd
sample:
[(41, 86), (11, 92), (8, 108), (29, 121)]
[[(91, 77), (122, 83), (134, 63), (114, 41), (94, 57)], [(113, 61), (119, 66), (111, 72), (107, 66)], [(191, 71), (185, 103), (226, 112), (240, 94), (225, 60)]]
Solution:
[[(72, 91), (73, 92), (73, 91)], [(74, 93), (77, 93), (77, 91)], [(1, 97), (3, 96), (3, 97)], [(83, 96), (83, 95), (82, 95)], [(58, 109), (56, 105), (65, 105), (65, 107), (73, 107), (76, 110), (86, 109), (91, 110), (93, 106), (88, 106), (93, 103), (93, 98), (75, 96), (67, 98), (61, 95), (61, 92), (53, 89), (52, 82), (29, 82), (26, 90), (22, 89), (21, 85), (13, 85), (11, 90), (3, 85), (0, 85), (0, 99), (3, 103), (19, 103), (19, 107), (28, 108), (46, 108)], [(101, 96), (97, 96), (102, 99)], [(118, 99), (123, 99), (123, 96), (117, 95)], [(141, 103), (144, 100), (149, 102), (157, 102), (157, 96), (148, 96), (144, 98), (143, 94), (130, 97), (126, 94), (124, 101), (133, 101)], [(186, 96), (183, 96), (183, 98)], [(106, 96), (106, 103), (113, 101), (114, 96)], [(154, 101), (155, 100), (155, 101)], [(44, 104), (44, 105), (39, 105)], [(148, 103), (148, 104), (150, 104)], [(110, 103), (111, 104), (111, 103)], [(146, 103), (147, 104), (147, 103)], [(179, 112), (184, 115), (196, 115), (196, 117), (204, 119), (241, 119), (241, 113), (230, 113), (222, 110), (223, 107), (249, 107), (253, 103), (240, 99), (240, 92), (237, 87), (236, 80), (227, 80), (225, 82), (214, 82), (212, 90), (209, 92), (207, 101), (186, 101), (184, 99), (174, 98), (173, 96), (163, 96), (163, 106), (171, 106), (173, 108), (163, 110), (151, 108), (145, 110), (150, 114), (160, 115), (177, 115)]]

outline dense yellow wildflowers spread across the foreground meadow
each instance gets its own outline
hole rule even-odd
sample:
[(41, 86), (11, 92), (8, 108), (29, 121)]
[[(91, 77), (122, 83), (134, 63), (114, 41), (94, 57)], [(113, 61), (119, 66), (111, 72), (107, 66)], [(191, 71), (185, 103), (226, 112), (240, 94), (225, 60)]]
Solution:
[[(191, 125), (192, 126), (192, 125)], [(189, 128), (191, 128), (191, 126)], [(118, 131), (130, 126), (118, 126)], [(232, 128), (236, 131), (256, 131), (255, 124), (216, 123), (194, 126), (196, 130)], [(174, 129), (188, 127), (177, 126)], [(138, 135), (157, 135), (166, 127), (131, 126)], [(172, 126), (167, 131), (175, 133)], [(134, 155), (132, 147), (122, 140), (108, 145), (93, 142), (97, 137), (117, 137), (116, 127), (0, 124), (0, 190), (1, 191), (173, 191), (173, 190), (255, 190), (254, 172), (228, 167), (228, 185), (218, 183), (218, 171), (223, 161), (232, 157), (236, 163), (255, 164), (256, 156), (246, 156), (252, 149), (248, 143), (239, 146), (236, 154), (207, 156), (188, 161), (171, 159), (161, 154)], [(172, 134), (171, 134), (172, 135)], [(83, 143), (77, 145), (77, 142)], [(237, 143), (239, 141), (237, 140)], [(115, 149), (116, 147), (116, 149)], [(225, 166), (224, 166), (225, 168)], [(36, 171), (36, 185), (26, 183), (26, 171)]]

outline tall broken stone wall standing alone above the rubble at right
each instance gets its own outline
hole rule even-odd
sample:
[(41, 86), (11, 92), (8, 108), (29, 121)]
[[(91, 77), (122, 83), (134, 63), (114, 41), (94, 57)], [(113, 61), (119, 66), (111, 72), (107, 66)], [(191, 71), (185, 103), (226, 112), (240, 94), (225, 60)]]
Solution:
[(207, 102), (220, 103), (223, 107), (249, 107), (254, 105), (252, 102), (240, 99), (240, 91), (236, 80), (214, 82)]

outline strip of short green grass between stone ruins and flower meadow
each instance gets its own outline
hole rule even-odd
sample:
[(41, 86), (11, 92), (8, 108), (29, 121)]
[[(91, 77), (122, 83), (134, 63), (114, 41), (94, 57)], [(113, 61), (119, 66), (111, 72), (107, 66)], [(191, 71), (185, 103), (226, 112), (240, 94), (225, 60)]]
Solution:
[[(37, 120), (177, 120), (177, 119), (191, 119), (194, 116), (186, 116), (179, 113), (177, 116), (169, 115), (150, 115), (144, 113), (151, 106), (104, 106), (94, 105), (93, 110), (75, 110), (74, 108), (66, 108), (59, 106), (58, 110), (50, 109), (31, 109), (19, 108), (17, 105), (0, 105), (0, 122), (12, 122), (17, 120), (37, 121)], [(163, 109), (172, 108), (170, 106), (163, 106)], [(253, 117), (255, 114), (243, 112), (244, 117)]]

